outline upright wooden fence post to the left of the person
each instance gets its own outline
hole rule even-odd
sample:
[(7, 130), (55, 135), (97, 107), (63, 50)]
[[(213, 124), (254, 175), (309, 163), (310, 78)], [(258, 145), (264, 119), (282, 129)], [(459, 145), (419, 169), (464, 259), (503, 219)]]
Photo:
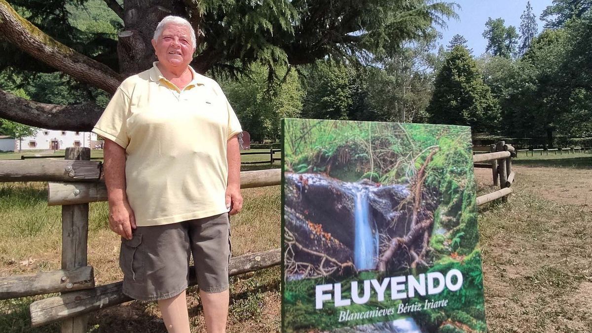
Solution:
[[(65, 159), (89, 161), (91, 149), (86, 147), (66, 148)], [(66, 172), (73, 169), (66, 167)], [(62, 269), (69, 270), (86, 266), (88, 241), (88, 203), (62, 206)], [(62, 333), (86, 333), (88, 315), (62, 321)]]

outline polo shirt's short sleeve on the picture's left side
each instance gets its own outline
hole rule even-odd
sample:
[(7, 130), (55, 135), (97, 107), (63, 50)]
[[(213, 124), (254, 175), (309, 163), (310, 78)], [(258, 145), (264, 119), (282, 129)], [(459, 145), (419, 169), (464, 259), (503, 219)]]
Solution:
[(123, 148), (130, 142), (127, 136), (127, 115), (130, 110), (130, 97), (117, 88), (101, 118), (92, 129), (93, 133), (109, 139)]

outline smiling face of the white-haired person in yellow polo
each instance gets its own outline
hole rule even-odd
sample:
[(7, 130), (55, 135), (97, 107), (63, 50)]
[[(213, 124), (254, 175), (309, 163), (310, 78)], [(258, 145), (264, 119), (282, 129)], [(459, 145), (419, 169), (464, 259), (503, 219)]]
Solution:
[(191, 43), (191, 30), (185, 25), (169, 23), (165, 25), (157, 40), (152, 40), (156, 57), (165, 68), (186, 67), (193, 59), (194, 47)]

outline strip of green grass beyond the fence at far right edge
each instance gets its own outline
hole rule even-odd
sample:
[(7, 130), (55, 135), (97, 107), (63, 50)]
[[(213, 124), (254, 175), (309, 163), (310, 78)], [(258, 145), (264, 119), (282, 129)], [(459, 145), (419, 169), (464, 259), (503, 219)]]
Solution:
[(535, 156), (525, 156), (520, 153), (518, 158), (512, 159), (514, 165), (525, 165), (528, 167), (552, 167), (552, 168), (592, 168), (592, 155), (589, 153), (563, 153), (543, 152), (543, 155), (535, 152)]

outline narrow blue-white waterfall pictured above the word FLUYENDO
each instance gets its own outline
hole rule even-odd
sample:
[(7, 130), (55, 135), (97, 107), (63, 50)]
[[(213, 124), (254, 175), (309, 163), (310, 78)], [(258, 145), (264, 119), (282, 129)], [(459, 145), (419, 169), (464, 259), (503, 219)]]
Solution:
[(378, 260), (378, 233), (372, 232), (368, 192), (358, 189), (354, 204), (356, 226), (353, 263), (359, 271), (374, 270)]

